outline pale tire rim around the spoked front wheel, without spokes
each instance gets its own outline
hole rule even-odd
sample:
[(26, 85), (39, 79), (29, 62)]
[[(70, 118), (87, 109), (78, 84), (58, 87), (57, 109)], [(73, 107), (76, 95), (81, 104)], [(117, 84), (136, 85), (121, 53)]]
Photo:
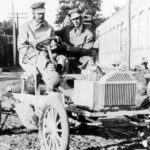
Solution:
[(45, 105), (45, 107), (42, 110), (41, 116), (39, 118), (39, 139), (41, 143), (41, 150), (48, 150), (46, 149), (46, 145), (43, 139), (43, 118), (45, 115), (45, 112), (50, 107), (54, 108), (54, 110), (58, 113), (61, 120), (62, 125), (62, 146), (60, 150), (67, 150), (69, 145), (69, 122), (68, 122), (68, 116), (66, 113), (66, 110), (63, 106), (63, 104), (58, 99), (49, 100), (49, 104)]

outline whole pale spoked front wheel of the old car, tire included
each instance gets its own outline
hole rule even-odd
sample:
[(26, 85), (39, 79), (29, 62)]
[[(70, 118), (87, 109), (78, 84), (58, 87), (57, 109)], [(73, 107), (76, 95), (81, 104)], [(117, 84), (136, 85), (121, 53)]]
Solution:
[(42, 111), (39, 123), (42, 150), (67, 150), (69, 143), (68, 117), (59, 100), (51, 100)]

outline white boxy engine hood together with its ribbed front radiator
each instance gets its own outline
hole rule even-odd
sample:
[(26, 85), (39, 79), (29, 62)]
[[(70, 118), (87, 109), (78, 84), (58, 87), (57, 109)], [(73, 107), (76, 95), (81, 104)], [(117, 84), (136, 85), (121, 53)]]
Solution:
[(136, 80), (127, 71), (111, 71), (99, 81), (75, 80), (74, 104), (90, 109), (133, 106)]

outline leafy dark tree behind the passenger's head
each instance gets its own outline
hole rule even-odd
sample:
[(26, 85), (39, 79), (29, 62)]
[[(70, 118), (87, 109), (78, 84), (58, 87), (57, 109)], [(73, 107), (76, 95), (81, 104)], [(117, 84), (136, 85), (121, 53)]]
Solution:
[(59, 0), (60, 8), (57, 13), (56, 24), (63, 22), (70, 8), (78, 7), (83, 12), (83, 16), (89, 15), (92, 17), (92, 22), (95, 27), (102, 23), (105, 18), (101, 16), (102, 0)]

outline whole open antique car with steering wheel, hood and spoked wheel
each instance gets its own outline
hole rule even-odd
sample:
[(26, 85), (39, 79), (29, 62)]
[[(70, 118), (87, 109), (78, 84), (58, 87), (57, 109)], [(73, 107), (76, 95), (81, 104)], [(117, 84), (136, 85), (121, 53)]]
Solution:
[[(50, 43), (52, 38), (46, 40)], [(51, 51), (45, 43), (37, 43), (37, 49), (43, 44)], [(149, 100), (137, 102), (137, 81), (130, 71), (113, 70), (95, 80), (88, 75), (66, 74), (61, 77), (60, 87), (45, 94), (44, 85), (36, 87), (36, 77), (23, 73), (21, 92), (11, 88), (2, 98), (13, 100), (12, 107), (25, 127), (39, 129), (43, 150), (68, 148), (68, 120), (101, 127), (103, 120), (125, 117), (137, 127), (149, 128)], [(35, 80), (34, 92), (28, 86), (31, 77)], [(143, 141), (144, 146), (148, 139), (149, 134)]]

